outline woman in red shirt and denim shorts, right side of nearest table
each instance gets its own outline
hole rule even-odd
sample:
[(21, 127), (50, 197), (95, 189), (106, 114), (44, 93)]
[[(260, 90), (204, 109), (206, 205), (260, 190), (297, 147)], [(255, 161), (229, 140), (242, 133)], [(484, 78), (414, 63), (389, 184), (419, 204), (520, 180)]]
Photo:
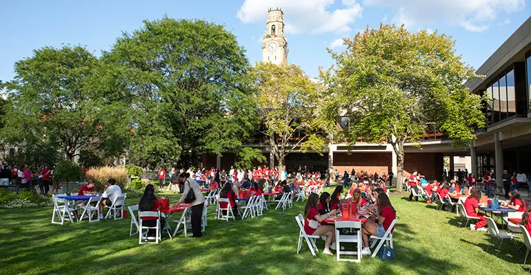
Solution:
[[(370, 255), (369, 238), (370, 236), (378, 236), (383, 238), (385, 232), (389, 229), (392, 221), (396, 219), (397, 214), (389, 201), (389, 197), (385, 193), (378, 195), (378, 208), (379, 212), (376, 215), (377, 220), (367, 219), (361, 226), (361, 238), (363, 239), (362, 255)], [(374, 213), (373, 213), (374, 214)], [(391, 232), (394, 228), (391, 228)]]

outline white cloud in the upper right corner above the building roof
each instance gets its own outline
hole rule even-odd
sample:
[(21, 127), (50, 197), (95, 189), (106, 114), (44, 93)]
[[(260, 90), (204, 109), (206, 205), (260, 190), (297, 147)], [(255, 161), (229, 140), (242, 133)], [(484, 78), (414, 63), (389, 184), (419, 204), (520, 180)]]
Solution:
[(365, 0), (365, 5), (394, 10), (392, 23), (407, 28), (426, 24), (461, 25), (472, 32), (482, 32), (500, 15), (517, 12), (525, 0)]

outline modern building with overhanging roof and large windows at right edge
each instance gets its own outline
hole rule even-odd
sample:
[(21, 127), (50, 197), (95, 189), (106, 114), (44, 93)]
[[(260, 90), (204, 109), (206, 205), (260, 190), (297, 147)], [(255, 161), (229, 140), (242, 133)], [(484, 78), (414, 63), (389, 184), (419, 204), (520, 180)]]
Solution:
[(476, 72), (485, 78), (466, 83), (490, 98), (483, 109), (488, 126), (470, 147), (472, 171), (531, 173), (531, 17)]

